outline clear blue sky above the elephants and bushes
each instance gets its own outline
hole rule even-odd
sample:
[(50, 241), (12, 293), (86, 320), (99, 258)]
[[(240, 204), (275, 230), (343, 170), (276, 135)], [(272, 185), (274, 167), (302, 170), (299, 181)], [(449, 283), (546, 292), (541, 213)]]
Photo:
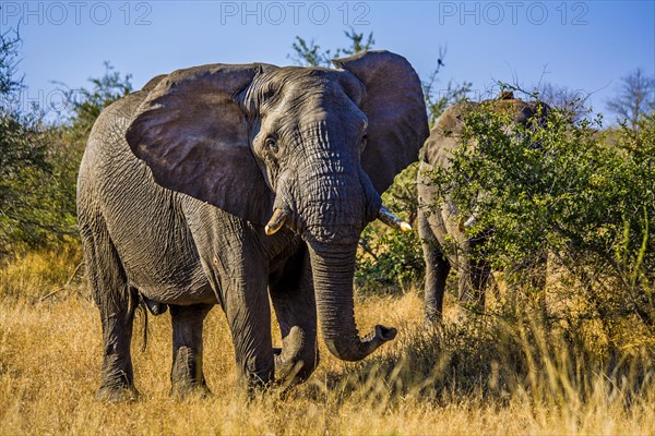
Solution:
[(550, 82), (592, 93), (597, 111), (635, 68), (655, 74), (654, 1), (0, 1), (0, 31), (20, 22), (26, 102), (57, 105), (110, 61), (135, 87), (203, 63), (290, 64), (296, 35), (322, 48), (344, 31), (405, 56), (422, 78), (446, 47), (437, 88)]

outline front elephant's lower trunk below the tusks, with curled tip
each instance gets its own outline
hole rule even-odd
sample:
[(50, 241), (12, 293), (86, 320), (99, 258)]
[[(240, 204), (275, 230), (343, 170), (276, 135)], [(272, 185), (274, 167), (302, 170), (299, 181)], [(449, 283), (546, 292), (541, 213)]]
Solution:
[(353, 277), (357, 244), (310, 243), (317, 310), (325, 346), (344, 361), (359, 361), (395, 338), (395, 328), (376, 326), (364, 339), (355, 324)]

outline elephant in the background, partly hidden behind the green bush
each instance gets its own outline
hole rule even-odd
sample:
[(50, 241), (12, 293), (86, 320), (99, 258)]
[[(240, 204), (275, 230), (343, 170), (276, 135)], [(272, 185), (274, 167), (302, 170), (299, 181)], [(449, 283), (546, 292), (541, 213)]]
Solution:
[[(467, 228), (475, 216), (462, 216), (448, 201), (433, 209), (436, 190), (429, 181), (434, 168), (450, 168), (452, 152), (460, 147), (465, 113), (479, 104), (462, 102), (445, 109), (439, 117), (421, 150), (418, 171), (418, 232), (426, 261), (425, 316), (429, 323), (440, 323), (443, 312), (445, 281), (452, 267), (458, 272), (460, 304), (473, 310), (485, 305), (485, 288), (491, 268), (487, 261), (472, 258), (471, 251), (485, 242), (485, 234), (471, 234)], [(510, 111), (515, 123), (525, 124), (538, 110), (536, 102), (514, 99), (511, 93), (492, 102), (495, 110)], [(471, 144), (469, 146), (475, 146)]]

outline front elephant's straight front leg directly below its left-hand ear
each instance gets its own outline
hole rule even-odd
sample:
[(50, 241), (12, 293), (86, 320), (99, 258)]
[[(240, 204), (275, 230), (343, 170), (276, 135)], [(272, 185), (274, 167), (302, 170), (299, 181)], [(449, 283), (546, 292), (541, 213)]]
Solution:
[[(261, 228), (214, 207), (186, 204), (205, 275), (233, 337), (239, 384), (249, 392), (274, 378), (269, 257)], [(263, 235), (263, 234), (262, 234)]]

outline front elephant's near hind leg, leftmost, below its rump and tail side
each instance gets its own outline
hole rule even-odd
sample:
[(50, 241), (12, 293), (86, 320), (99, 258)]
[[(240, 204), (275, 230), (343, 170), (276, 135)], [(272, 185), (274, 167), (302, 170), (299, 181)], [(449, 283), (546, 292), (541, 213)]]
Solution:
[(128, 286), (107, 231), (99, 227), (92, 231), (81, 220), (86, 274), (103, 326), (103, 366), (96, 397), (111, 402), (134, 400), (139, 392), (134, 387), (130, 343), (139, 298), (136, 290)]

